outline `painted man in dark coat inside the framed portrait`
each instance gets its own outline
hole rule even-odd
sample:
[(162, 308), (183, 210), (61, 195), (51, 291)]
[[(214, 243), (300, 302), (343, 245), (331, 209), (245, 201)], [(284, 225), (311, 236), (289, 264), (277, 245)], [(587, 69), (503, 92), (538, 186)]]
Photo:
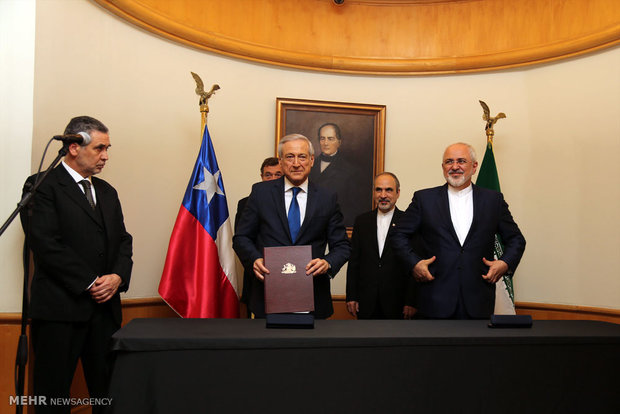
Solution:
[(326, 123), (318, 130), (321, 154), (312, 166), (310, 181), (322, 187), (327, 187), (338, 194), (338, 202), (344, 215), (345, 226), (351, 226), (369, 198), (359, 186), (351, 185), (360, 175), (355, 165), (343, 157), (340, 147), (342, 135), (337, 124)]

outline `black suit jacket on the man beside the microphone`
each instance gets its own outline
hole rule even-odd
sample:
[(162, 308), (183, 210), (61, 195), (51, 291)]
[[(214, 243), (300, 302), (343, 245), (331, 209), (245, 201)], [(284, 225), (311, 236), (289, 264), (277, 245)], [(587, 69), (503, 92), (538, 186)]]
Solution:
[[(35, 176), (28, 178), (34, 183)], [(126, 291), (132, 268), (132, 237), (125, 230), (116, 190), (92, 177), (97, 195), (93, 210), (80, 187), (59, 165), (39, 187), (28, 239), (34, 253), (30, 317), (86, 321), (97, 306), (86, 291), (95, 277), (118, 274)], [(104, 306), (121, 322), (117, 292)]]

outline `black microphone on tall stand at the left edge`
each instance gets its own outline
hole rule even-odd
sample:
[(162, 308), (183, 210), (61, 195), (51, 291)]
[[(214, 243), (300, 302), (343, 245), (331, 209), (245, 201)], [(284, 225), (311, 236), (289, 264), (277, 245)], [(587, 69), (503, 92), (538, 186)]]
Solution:
[[(24, 406), (21, 404), (21, 397), (24, 396), (24, 384), (26, 379), (26, 363), (28, 362), (28, 336), (26, 334), (26, 327), (28, 325), (28, 278), (30, 275), (30, 217), (32, 216), (32, 197), (35, 195), (39, 186), (45, 181), (47, 175), (52, 171), (56, 165), (60, 162), (61, 158), (67, 155), (69, 151), (69, 143), (64, 143), (62, 148), (58, 150), (58, 155), (52, 161), (50, 166), (42, 174), (38, 174), (34, 185), (26, 183), (24, 185), (25, 193), (22, 194), (22, 199), (17, 203), (17, 208), (11, 213), (9, 218), (0, 227), (0, 236), (5, 232), (9, 225), (13, 222), (15, 217), (26, 207), (28, 207), (28, 218), (23, 219), (22, 225), (24, 226), (24, 251), (23, 251), (23, 266), (24, 266), (24, 287), (22, 295), (22, 322), (21, 322), (21, 334), (17, 343), (17, 355), (15, 357), (15, 396), (20, 398), (18, 404), (15, 405), (17, 414), (23, 412)], [(31, 188), (30, 188), (31, 187)]]

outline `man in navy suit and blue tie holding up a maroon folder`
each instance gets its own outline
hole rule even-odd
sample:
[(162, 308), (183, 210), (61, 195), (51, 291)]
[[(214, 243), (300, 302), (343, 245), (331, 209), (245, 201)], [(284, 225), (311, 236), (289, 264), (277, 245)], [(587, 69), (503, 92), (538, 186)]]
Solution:
[(335, 193), (308, 182), (314, 163), (314, 149), (308, 138), (300, 134), (285, 136), (278, 144), (278, 156), (284, 177), (252, 186), (233, 237), (235, 252), (256, 276), (252, 280), (250, 310), (256, 317), (265, 315), (263, 281), (269, 269), (264, 264), (263, 248), (311, 245), (312, 260), (305, 270), (313, 276), (314, 315), (327, 318), (333, 313), (330, 280), (351, 253), (342, 213)]

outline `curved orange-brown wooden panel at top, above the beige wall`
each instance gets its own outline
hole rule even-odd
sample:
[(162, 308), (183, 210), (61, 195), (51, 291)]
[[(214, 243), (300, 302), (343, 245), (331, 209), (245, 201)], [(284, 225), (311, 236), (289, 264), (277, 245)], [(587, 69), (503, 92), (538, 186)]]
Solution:
[(324, 71), (470, 72), (620, 43), (617, 0), (95, 1), (185, 44)]

